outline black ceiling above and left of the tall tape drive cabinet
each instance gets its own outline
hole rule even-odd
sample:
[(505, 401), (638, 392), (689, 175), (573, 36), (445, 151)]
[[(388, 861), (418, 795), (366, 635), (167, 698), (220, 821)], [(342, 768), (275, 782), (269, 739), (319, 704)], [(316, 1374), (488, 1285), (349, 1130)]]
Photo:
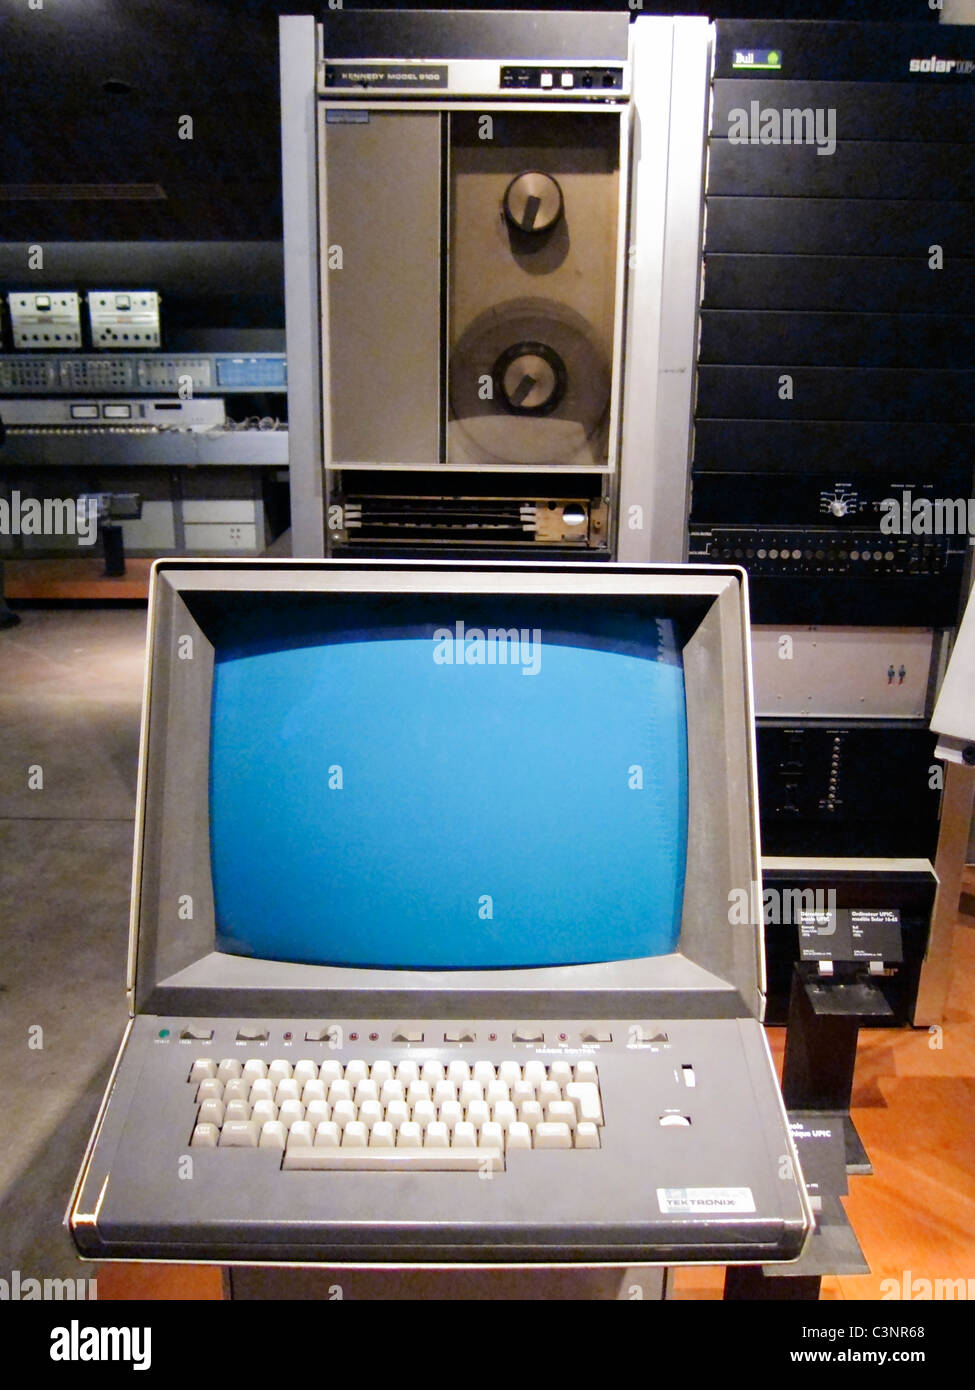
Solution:
[[(519, 7), (481, 0), (416, 8)], [(554, 0), (520, 8), (629, 6)], [(0, 240), (280, 238), (277, 17), (312, 10), (324, 6), (45, 0), (32, 10), (28, 0), (0, 0)], [(644, 0), (643, 10), (714, 18), (937, 18), (922, 0)], [(192, 117), (192, 139), (179, 138), (182, 117)], [(86, 193), (79, 185), (99, 188), (79, 196)]]

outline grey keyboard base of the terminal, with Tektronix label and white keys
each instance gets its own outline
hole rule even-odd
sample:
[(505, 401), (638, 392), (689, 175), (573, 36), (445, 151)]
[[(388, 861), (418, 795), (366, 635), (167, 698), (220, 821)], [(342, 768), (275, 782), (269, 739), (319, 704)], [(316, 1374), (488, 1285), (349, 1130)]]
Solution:
[(761, 1023), (672, 1016), (138, 1015), (71, 1212), (210, 1264), (764, 1264), (807, 1223)]

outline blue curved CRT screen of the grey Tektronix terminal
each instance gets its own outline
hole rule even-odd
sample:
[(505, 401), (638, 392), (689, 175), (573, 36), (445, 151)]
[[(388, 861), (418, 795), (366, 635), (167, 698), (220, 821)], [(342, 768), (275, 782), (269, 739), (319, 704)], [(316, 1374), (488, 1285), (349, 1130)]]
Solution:
[(676, 949), (680, 655), (640, 600), (319, 596), (216, 648), (217, 949), (382, 969)]

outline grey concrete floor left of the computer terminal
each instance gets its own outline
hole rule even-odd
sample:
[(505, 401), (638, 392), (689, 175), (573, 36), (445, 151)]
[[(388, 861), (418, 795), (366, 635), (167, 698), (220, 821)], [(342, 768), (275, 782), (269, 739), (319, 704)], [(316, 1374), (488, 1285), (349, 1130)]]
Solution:
[(0, 631), (0, 1277), (92, 1277), (61, 1219), (127, 1019), (146, 612), (21, 619)]

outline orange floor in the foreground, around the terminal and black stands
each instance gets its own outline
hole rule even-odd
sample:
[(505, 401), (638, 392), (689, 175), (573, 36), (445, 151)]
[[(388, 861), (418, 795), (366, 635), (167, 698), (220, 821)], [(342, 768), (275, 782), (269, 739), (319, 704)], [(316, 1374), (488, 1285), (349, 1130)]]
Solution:
[[(975, 905), (969, 869), (962, 906)], [(823, 1298), (879, 1298), (882, 1282), (971, 1279), (975, 1287), (975, 916), (954, 933), (954, 974), (942, 1030), (860, 1034), (853, 1119), (873, 1163), (851, 1177), (844, 1205), (869, 1275), (825, 1279)], [(784, 1029), (769, 1029), (776, 1063)], [(723, 1269), (679, 1269), (675, 1295), (720, 1298)], [(220, 1298), (218, 1269), (102, 1265), (99, 1298)]]

